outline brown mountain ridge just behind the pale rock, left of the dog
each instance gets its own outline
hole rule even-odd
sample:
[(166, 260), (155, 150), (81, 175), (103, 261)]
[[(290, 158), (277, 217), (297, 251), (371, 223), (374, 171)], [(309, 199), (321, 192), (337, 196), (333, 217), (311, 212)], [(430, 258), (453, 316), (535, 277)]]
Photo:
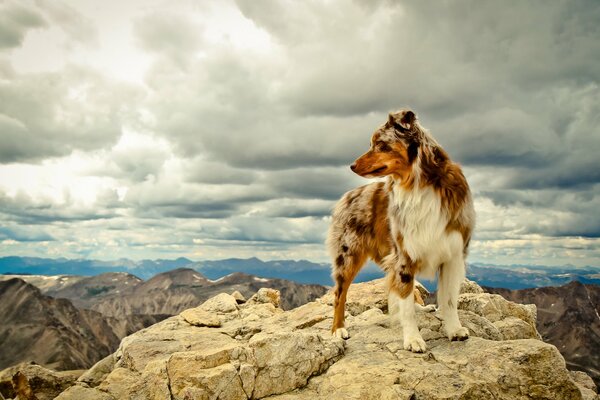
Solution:
[(179, 268), (155, 275), (147, 281), (125, 273), (101, 274), (51, 290), (48, 294), (70, 299), (79, 307), (93, 309), (106, 316), (123, 318), (136, 314), (174, 315), (219, 293), (237, 290), (248, 298), (263, 287), (278, 289), (285, 309), (312, 301), (327, 290), (320, 285), (300, 285), (240, 272), (210, 280), (193, 269)]

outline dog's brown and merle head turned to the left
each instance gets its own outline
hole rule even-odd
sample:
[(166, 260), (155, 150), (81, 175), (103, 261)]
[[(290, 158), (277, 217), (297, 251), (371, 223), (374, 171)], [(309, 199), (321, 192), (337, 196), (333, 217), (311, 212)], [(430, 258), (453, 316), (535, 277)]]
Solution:
[(411, 110), (390, 113), (388, 120), (371, 137), (369, 151), (350, 166), (365, 178), (394, 175), (404, 180), (419, 153), (421, 131)]

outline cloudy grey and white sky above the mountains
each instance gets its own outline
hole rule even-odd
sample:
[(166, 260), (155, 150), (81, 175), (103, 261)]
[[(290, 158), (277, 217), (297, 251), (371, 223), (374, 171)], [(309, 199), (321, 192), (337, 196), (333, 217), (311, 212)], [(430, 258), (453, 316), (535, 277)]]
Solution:
[(0, 0), (0, 256), (327, 262), (408, 107), (469, 261), (600, 265), (597, 1)]

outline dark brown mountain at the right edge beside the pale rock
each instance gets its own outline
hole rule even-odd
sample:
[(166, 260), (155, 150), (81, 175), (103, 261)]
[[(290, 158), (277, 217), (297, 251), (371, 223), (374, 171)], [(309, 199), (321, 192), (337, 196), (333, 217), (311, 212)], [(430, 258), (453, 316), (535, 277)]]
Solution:
[(600, 385), (600, 286), (571, 282), (560, 287), (486, 288), (508, 300), (537, 306), (537, 329), (565, 357), (569, 369)]

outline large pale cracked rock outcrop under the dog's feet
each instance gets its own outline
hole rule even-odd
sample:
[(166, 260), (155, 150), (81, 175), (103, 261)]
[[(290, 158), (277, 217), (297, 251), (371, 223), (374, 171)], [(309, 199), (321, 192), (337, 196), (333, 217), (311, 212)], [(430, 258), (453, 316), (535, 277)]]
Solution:
[(459, 316), (471, 338), (449, 342), (439, 317), (419, 311), (425, 354), (403, 350), (383, 280), (351, 286), (347, 341), (329, 332), (329, 295), (284, 312), (276, 291), (239, 305), (222, 294), (123, 339), (58, 399), (597, 399), (539, 340), (535, 307), (469, 285)]

